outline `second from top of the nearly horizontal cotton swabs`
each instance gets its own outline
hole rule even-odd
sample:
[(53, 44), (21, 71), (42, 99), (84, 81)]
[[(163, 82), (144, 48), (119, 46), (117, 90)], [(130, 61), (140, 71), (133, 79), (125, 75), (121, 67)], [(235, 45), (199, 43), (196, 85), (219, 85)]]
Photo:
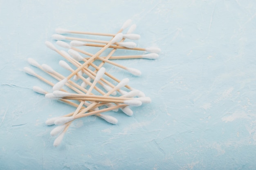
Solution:
[[(54, 40), (73, 40), (73, 46), (80, 46), (79, 44), (76, 45), (76, 43), (80, 43), (82, 41), (84, 42), (95, 42), (95, 43), (101, 43), (101, 44), (108, 44), (109, 41), (103, 41), (103, 40), (92, 40), (92, 39), (86, 39), (86, 38), (75, 38), (75, 37), (66, 37), (60, 34), (54, 34), (52, 35), (52, 39)], [(114, 44), (119, 46), (124, 46), (126, 48), (135, 48), (137, 44), (135, 42), (115, 42)]]

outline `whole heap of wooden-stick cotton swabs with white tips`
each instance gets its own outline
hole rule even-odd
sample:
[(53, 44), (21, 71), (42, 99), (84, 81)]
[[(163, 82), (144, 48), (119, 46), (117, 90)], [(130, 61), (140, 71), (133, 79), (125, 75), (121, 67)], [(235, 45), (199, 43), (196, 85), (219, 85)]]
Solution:
[[(49, 41), (46, 41), (45, 45), (69, 62), (68, 64), (64, 60), (60, 60), (59, 65), (67, 71), (70, 71), (70, 75), (62, 75), (47, 64), (40, 65), (34, 59), (28, 59), (29, 64), (39, 68), (58, 81), (54, 84), (38, 75), (31, 68), (25, 67), (24, 71), (26, 73), (49, 84), (53, 89), (53, 91), (49, 93), (38, 86), (34, 86), (33, 90), (45, 95), (48, 99), (60, 100), (76, 108), (72, 113), (46, 120), (45, 123), (48, 126), (58, 125), (50, 132), (50, 135), (57, 136), (54, 141), (54, 146), (61, 144), (65, 132), (75, 119), (95, 115), (106, 120), (110, 124), (117, 124), (117, 119), (110, 115), (106, 115), (105, 112), (110, 110), (117, 112), (120, 108), (126, 115), (132, 116), (133, 112), (130, 109), (130, 106), (141, 106), (141, 104), (151, 102), (151, 99), (146, 97), (143, 92), (128, 86), (128, 78), (119, 80), (114, 75), (108, 73), (103, 67), (105, 63), (108, 63), (124, 69), (132, 75), (139, 76), (141, 75), (141, 72), (138, 69), (126, 67), (111, 60), (136, 58), (157, 59), (157, 53), (160, 52), (160, 49), (155, 47), (139, 48), (136, 47), (137, 44), (135, 42), (124, 42), (125, 39), (137, 40), (140, 38), (140, 35), (132, 33), (135, 30), (136, 25), (133, 24), (130, 26), (130, 23), (131, 20), (127, 20), (116, 34), (56, 29), (56, 33), (58, 34), (52, 35), (52, 38), (58, 40), (56, 42), (58, 46), (64, 47), (68, 49), (68, 51), (58, 50)], [(130, 26), (128, 32), (126, 34), (121, 33), (128, 26)], [(76, 37), (71, 37), (61, 34), (97, 35), (112, 38), (105, 41), (77, 38), (77, 35)], [(65, 42), (61, 40), (65, 40)], [(70, 41), (70, 44), (68, 44), (67, 41)], [(83, 48), (83, 46), (90, 46), (90, 48), (98, 47), (100, 50), (97, 53), (92, 54), (83, 49), (79, 49), (79, 47)], [(100, 56), (106, 49), (110, 49), (110, 53), (106, 56)], [(117, 50), (135, 50), (150, 53), (144, 52), (140, 55), (114, 56), (113, 54)], [(101, 61), (101, 63), (98, 64), (99, 62), (95, 62), (96, 60)], [(70, 64), (76, 69), (73, 69)], [(65, 86), (65, 89), (63, 86)]]

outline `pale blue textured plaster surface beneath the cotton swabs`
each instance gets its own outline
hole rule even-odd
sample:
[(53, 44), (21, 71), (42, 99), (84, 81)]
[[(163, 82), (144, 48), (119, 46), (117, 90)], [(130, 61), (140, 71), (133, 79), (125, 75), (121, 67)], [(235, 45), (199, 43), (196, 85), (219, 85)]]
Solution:
[[(1, 0), (0, 169), (255, 169), (255, 16), (254, 0)], [(115, 33), (127, 19), (137, 24), (139, 47), (162, 52), (119, 61), (140, 77), (106, 69), (152, 103), (133, 107), (132, 117), (110, 112), (117, 125), (79, 119), (54, 148), (45, 120), (74, 108), (32, 91), (51, 87), (22, 71), (45, 76), (27, 58), (68, 75), (44, 44), (56, 28)]]

